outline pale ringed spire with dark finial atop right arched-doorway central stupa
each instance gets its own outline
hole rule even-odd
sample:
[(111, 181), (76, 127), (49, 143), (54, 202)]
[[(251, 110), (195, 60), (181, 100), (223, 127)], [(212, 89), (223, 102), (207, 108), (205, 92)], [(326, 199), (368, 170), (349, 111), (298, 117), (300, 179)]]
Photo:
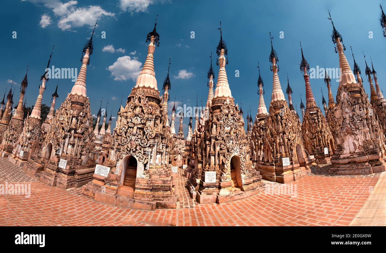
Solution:
[(229, 88), (229, 83), (228, 83), (228, 78), (227, 78), (227, 71), (225, 70), (225, 65), (228, 64), (228, 49), (227, 49), (227, 44), (225, 41), (222, 39), (222, 29), (221, 29), (221, 22), (220, 22), (220, 28), (218, 28), (220, 31), (220, 41), (218, 42), (217, 45), (217, 56), (218, 58), (218, 63), (217, 65), (220, 66), (218, 69), (218, 76), (217, 76), (217, 87), (214, 93), (213, 99), (217, 98), (232, 98), (232, 92), (230, 91)]

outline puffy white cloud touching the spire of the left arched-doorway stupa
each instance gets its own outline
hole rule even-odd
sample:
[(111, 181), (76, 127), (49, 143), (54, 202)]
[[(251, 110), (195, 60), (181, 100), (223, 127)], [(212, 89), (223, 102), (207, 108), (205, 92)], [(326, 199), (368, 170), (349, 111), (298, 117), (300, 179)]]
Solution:
[(122, 56), (113, 63), (113, 65), (108, 66), (108, 70), (111, 72), (111, 76), (114, 77), (114, 80), (125, 81), (132, 79), (135, 81), (141, 72), (142, 63), (135, 59), (131, 59), (130, 56)]

